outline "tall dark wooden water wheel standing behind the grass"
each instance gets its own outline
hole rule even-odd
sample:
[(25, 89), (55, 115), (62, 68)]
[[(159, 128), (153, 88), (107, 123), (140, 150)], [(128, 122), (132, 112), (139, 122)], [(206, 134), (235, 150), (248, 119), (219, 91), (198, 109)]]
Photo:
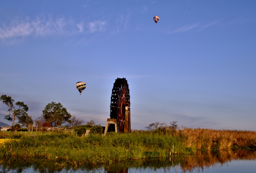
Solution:
[(130, 91), (125, 78), (115, 79), (110, 103), (110, 118), (116, 119), (119, 133), (131, 132)]

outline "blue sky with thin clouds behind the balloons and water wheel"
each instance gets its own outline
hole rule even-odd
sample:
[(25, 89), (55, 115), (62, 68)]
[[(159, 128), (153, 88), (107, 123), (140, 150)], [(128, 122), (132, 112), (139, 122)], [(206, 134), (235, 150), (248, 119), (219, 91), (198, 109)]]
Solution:
[[(255, 1), (1, 1), (0, 95), (24, 101), (32, 117), (54, 101), (105, 125), (113, 83), (125, 77), (132, 129), (178, 121), (256, 130), (255, 8)], [(78, 81), (87, 84), (82, 95)]]

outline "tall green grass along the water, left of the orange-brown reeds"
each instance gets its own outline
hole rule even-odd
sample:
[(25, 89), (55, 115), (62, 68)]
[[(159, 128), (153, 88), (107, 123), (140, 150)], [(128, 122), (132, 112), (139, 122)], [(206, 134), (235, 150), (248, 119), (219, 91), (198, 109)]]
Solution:
[[(0, 157), (62, 160), (72, 164), (103, 164), (146, 157), (167, 157), (171, 146), (175, 152), (185, 151), (179, 137), (151, 134), (90, 135), (78, 137), (70, 134), (16, 135), (17, 140), (0, 147)], [(145, 155), (156, 152), (157, 155)]]

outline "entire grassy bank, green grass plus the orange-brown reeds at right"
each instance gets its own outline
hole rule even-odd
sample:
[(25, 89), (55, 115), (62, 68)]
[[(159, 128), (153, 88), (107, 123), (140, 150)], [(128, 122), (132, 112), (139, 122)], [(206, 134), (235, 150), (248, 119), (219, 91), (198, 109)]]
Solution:
[[(111, 164), (125, 160), (168, 158), (175, 154), (191, 154), (195, 151), (227, 149), (255, 149), (256, 132), (236, 130), (211, 130), (183, 128), (178, 131), (133, 131), (106, 136), (91, 134), (78, 137), (65, 133), (46, 135), (2, 135), (7, 140), (0, 145), (1, 158), (41, 158), (58, 163)], [(174, 148), (173, 148), (174, 146)]]

